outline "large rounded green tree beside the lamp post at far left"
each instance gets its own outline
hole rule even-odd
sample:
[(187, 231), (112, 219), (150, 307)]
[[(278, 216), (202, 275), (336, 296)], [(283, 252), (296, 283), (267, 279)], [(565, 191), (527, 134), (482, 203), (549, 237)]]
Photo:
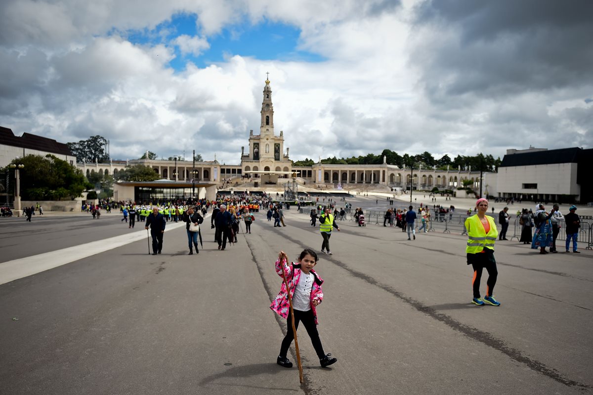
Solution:
[(20, 171), (24, 200), (74, 200), (93, 187), (80, 169), (54, 155), (27, 155), (11, 163), (24, 165)]

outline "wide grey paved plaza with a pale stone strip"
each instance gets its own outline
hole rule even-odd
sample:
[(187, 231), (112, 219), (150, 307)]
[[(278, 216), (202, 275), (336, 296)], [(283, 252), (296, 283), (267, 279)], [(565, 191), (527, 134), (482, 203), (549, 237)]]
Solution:
[[(351, 201), (382, 210), (380, 198)], [(511, 211), (522, 206), (531, 204)], [(226, 251), (216, 249), (208, 218), (203, 249), (191, 256), (183, 225), (168, 223), (163, 253), (153, 256), (143, 224), (130, 230), (119, 213), (0, 220), (0, 393), (593, 393), (585, 246), (542, 256), (497, 241), (502, 306), (477, 307), (465, 236), (408, 241), (396, 227), (350, 221), (331, 236), (334, 255), (315, 267), (325, 280), (318, 330), (338, 362), (321, 368), (301, 327), (299, 384), (296, 363), (276, 365), (286, 327), (268, 308), (282, 281), (278, 252), (296, 259), (321, 248), (318, 228), (296, 211), (285, 210), (280, 228), (260, 211), (252, 233)], [(32, 265), (56, 267), (28, 275)], [(288, 357), (296, 362), (294, 347)]]

